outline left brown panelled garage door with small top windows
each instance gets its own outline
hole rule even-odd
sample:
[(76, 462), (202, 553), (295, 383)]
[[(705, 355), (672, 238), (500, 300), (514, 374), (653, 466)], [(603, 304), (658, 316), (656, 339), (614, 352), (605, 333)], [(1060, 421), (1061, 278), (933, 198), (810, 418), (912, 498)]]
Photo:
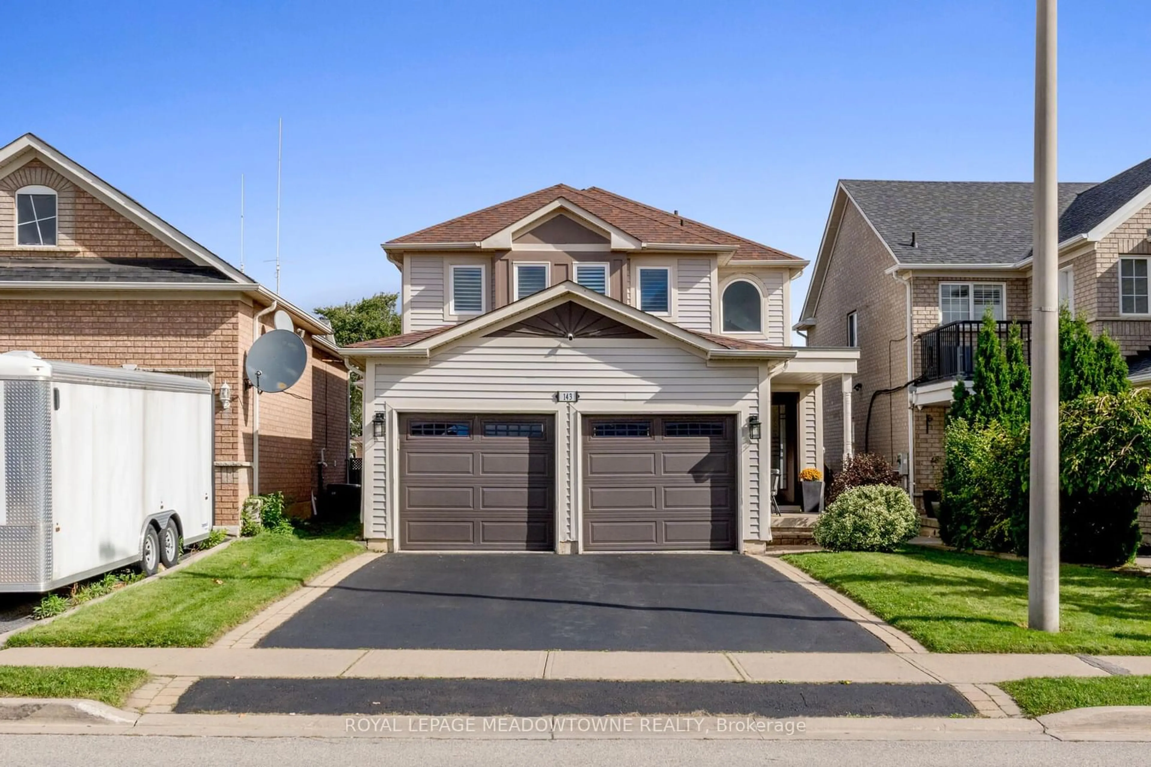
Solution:
[(554, 547), (551, 416), (399, 416), (399, 545)]

